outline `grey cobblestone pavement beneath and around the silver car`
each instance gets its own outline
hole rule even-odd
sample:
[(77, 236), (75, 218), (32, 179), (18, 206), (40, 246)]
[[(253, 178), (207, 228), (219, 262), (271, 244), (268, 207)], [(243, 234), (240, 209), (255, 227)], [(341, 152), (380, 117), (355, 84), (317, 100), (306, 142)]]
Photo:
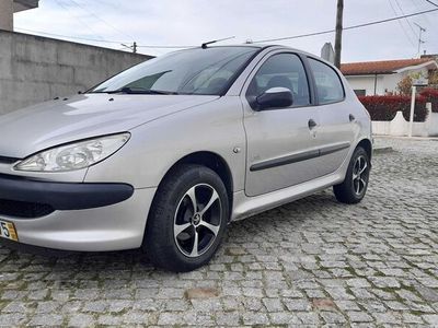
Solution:
[(362, 203), (326, 190), (233, 223), (195, 272), (0, 248), (0, 324), (438, 327), (438, 141), (378, 144), (394, 152), (376, 155)]

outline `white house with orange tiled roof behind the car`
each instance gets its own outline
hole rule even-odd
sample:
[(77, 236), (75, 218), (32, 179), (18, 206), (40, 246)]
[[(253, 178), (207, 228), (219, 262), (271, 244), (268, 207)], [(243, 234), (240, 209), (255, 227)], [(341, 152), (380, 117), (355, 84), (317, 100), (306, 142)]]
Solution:
[(396, 93), (397, 83), (413, 73), (427, 78), (429, 71), (437, 70), (433, 58), (401, 59), (343, 63), (341, 71), (357, 95), (384, 95)]

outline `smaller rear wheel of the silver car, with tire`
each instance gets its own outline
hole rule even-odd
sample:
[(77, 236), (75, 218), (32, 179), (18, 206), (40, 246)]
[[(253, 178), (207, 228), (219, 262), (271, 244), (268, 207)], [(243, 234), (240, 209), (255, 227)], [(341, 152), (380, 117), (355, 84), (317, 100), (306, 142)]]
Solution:
[(336, 199), (343, 203), (358, 203), (367, 192), (371, 163), (367, 151), (358, 147), (353, 153), (345, 180), (333, 187)]

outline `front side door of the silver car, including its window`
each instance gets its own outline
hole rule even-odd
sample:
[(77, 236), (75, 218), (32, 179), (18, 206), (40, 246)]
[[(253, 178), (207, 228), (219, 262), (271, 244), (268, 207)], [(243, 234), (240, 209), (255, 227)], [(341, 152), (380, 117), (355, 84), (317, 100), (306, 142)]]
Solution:
[[(273, 87), (289, 89), (293, 105), (253, 108), (253, 101)], [(247, 196), (287, 188), (318, 176), (315, 127), (320, 118), (310, 90), (302, 59), (297, 54), (270, 54), (250, 74), (242, 94)]]

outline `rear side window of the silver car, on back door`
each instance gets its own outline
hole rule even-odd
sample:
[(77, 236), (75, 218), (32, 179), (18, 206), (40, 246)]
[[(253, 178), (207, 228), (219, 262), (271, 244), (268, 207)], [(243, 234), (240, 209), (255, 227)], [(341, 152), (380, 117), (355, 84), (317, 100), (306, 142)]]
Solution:
[(344, 87), (337, 73), (327, 65), (309, 58), (316, 84), (320, 104), (331, 104), (344, 99)]

